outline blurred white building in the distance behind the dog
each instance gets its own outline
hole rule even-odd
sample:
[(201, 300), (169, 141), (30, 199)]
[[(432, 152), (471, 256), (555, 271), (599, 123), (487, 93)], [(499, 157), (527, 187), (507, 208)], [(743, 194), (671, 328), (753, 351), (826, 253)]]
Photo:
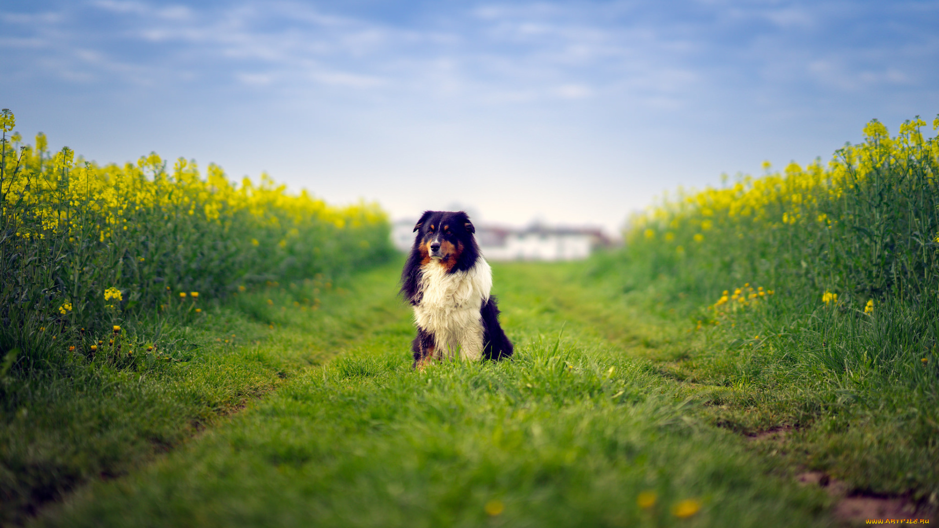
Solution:
[[(392, 228), (394, 246), (410, 251), (414, 222), (400, 220)], [(609, 240), (600, 229), (532, 225), (512, 229), (476, 226), (476, 241), (487, 260), (577, 260), (590, 256), (594, 248)]]

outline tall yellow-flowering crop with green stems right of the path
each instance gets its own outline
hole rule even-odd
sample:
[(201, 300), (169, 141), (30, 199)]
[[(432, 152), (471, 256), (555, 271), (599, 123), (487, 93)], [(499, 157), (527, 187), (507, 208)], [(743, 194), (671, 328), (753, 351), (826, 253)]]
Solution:
[(702, 351), (695, 376), (757, 388), (777, 414), (725, 423), (819, 426), (806, 438), (824, 468), (928, 495), (939, 491), (939, 140), (924, 126), (890, 136), (874, 120), (827, 165), (767, 163), (761, 178), (667, 197), (596, 271), (623, 290), (654, 284), (685, 306), (705, 349), (743, 358)]

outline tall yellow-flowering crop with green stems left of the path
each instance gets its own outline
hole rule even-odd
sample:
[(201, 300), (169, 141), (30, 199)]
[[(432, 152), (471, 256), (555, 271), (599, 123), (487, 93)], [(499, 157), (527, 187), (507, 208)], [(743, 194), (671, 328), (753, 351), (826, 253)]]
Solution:
[(25, 145), (9, 134), (15, 116), (5, 109), (2, 119), (5, 370), (91, 360), (115, 326), (185, 320), (239, 289), (331, 276), (391, 254), (375, 204), (337, 208), (289, 194), (267, 175), (236, 184), (217, 165), (203, 176), (194, 162), (169, 167), (156, 154), (100, 166), (69, 148), (51, 153), (41, 133)]

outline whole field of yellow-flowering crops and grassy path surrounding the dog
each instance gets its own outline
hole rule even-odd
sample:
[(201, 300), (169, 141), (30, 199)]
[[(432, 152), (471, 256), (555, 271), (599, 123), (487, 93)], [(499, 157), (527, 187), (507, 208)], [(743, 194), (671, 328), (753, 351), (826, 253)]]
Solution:
[(155, 154), (76, 161), (4, 112), (0, 524), (939, 508), (939, 140), (918, 117), (666, 195), (587, 261), (494, 266), (515, 359), (414, 372), (377, 205)]

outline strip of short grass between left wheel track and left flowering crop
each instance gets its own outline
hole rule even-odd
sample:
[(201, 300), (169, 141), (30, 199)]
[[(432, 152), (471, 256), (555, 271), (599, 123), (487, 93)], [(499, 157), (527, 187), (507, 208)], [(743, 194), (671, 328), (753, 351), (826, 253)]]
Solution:
[[(124, 329), (153, 336), (159, 357), (171, 359), (138, 348), (140, 357), (117, 360), (102, 350), (91, 363), (76, 354), (30, 377), (0, 376), (0, 524), (22, 522), (88, 480), (131, 472), (354, 346), (367, 329), (401, 319), (393, 272), (360, 274), (354, 294), (306, 281), (205, 304), (186, 325), (145, 319)], [(317, 298), (316, 311), (294, 304)]]

